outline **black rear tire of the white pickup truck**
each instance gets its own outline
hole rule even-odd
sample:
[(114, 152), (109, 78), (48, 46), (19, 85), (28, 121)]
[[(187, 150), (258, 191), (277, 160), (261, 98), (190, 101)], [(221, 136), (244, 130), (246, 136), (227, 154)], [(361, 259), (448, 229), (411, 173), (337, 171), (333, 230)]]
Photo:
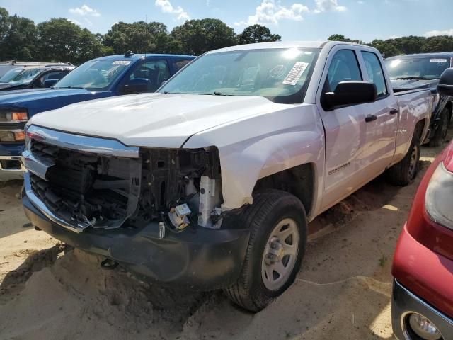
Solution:
[[(413, 136), (406, 156), (387, 170), (387, 179), (392, 185), (407, 186), (413, 182), (420, 169), (420, 149), (420, 138)], [(414, 152), (416, 152), (415, 155)], [(413, 157), (415, 157), (415, 164), (413, 164)], [(415, 166), (415, 168), (412, 166)]]

